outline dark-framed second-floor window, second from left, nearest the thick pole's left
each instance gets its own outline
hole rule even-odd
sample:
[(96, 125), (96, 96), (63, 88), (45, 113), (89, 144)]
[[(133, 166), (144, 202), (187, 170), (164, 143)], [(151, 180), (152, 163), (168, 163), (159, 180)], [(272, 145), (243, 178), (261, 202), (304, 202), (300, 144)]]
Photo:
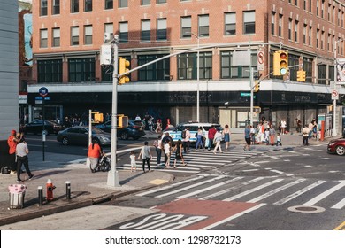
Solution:
[(95, 58), (69, 58), (68, 81), (95, 81)]

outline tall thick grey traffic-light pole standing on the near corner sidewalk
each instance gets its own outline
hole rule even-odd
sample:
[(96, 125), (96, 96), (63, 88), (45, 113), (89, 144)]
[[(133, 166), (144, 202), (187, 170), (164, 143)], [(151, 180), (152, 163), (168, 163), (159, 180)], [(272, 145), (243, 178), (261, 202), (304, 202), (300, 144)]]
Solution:
[(119, 187), (119, 174), (116, 170), (116, 146), (117, 146), (117, 114), (118, 114), (118, 45), (119, 35), (114, 36), (113, 52), (114, 52), (114, 68), (112, 74), (112, 108), (111, 108), (111, 170), (108, 172), (107, 185), (111, 187)]

